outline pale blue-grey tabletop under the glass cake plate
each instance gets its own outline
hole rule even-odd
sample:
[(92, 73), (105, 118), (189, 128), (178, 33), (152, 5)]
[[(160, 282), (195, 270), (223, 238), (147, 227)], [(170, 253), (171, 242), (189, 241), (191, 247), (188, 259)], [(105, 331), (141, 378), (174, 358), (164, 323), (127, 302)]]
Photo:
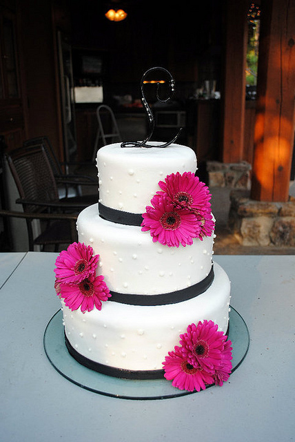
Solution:
[(245, 360), (223, 387), (152, 401), (74, 385), (45, 356), (59, 298), (57, 253), (0, 253), (0, 438), (13, 441), (285, 442), (295, 437), (295, 256), (215, 256), (232, 307), (250, 332)]

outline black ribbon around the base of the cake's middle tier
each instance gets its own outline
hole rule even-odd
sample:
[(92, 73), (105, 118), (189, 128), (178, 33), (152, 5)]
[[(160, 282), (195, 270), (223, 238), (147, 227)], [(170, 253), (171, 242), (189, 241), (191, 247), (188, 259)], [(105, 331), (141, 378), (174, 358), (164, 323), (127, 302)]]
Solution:
[(185, 289), (157, 295), (126, 294), (110, 290), (112, 297), (109, 298), (108, 302), (114, 301), (121, 304), (144, 306), (176, 304), (177, 302), (183, 302), (201, 295), (212, 285), (213, 280), (214, 269), (212, 265), (210, 273), (206, 278), (194, 285), (190, 285), (190, 287), (185, 287)]

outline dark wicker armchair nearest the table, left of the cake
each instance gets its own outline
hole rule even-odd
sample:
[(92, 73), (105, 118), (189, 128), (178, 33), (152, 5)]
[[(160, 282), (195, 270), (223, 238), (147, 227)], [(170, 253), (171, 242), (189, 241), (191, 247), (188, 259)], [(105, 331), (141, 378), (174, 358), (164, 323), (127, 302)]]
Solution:
[[(70, 243), (74, 238), (75, 222), (79, 211), (97, 202), (98, 195), (59, 198), (57, 183), (50, 162), (42, 145), (19, 148), (6, 154), (8, 166), (19, 191), (17, 203), (22, 204), (23, 213), (10, 212), (10, 216), (26, 218), (29, 248)], [(22, 214), (21, 214), (22, 213)], [(7, 211), (0, 215), (8, 216)], [(32, 220), (41, 220), (42, 232), (33, 238)]]

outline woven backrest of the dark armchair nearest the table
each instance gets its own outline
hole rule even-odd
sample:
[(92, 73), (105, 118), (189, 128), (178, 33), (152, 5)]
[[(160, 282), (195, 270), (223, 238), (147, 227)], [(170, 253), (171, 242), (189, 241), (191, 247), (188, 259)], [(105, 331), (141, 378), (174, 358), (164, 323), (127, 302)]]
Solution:
[[(57, 184), (42, 144), (15, 149), (6, 154), (6, 159), (22, 200), (44, 203), (59, 200)], [(41, 209), (34, 204), (23, 204), (23, 210), (37, 212)]]

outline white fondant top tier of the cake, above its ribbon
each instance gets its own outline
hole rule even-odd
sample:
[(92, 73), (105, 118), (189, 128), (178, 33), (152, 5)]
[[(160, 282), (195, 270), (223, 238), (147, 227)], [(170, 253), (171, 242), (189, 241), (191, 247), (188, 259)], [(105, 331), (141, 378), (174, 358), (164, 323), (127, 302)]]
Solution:
[[(157, 142), (150, 142), (154, 146)], [(196, 172), (196, 155), (187, 146), (103, 146), (97, 153), (99, 201), (104, 206), (130, 213), (144, 213), (158, 182), (171, 173)]]

